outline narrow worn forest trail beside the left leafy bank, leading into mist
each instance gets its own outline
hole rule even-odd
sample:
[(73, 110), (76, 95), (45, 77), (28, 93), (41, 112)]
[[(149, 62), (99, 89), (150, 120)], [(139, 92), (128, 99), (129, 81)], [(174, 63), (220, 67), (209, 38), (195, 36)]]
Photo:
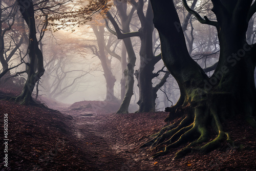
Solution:
[[(115, 151), (115, 138), (104, 127), (105, 116), (100, 114), (84, 113), (82, 110), (61, 111), (73, 116), (73, 133), (82, 151), (90, 152), (94, 166), (99, 170), (124, 170), (129, 163)], [(113, 164), (116, 163), (116, 164)], [(123, 164), (121, 164), (123, 163)]]

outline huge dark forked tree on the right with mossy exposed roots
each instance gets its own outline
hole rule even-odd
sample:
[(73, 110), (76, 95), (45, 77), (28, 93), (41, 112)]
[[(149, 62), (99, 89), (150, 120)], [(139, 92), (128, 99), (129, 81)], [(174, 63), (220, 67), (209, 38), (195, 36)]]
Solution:
[[(256, 46), (246, 42), (248, 22), (256, 11), (256, 3), (252, 4), (252, 0), (211, 0), (212, 12), (217, 18), (214, 21), (206, 16), (202, 18), (183, 0), (186, 10), (195, 15), (200, 23), (217, 29), (220, 56), (211, 77), (204, 73), (187, 51), (184, 34), (177, 28), (180, 20), (174, 2), (151, 0), (151, 3), (154, 25), (161, 40), (162, 59), (177, 80), (181, 93), (176, 105), (168, 109), (170, 114), (166, 121), (172, 121), (179, 115), (184, 118), (164, 127), (152, 141), (142, 147), (153, 145), (158, 149), (166, 145), (163, 151), (154, 155), (158, 157), (167, 154), (172, 147), (189, 142), (176, 153), (175, 158), (179, 158), (191, 151), (209, 152), (222, 141), (232, 143), (229, 133), (224, 132), (222, 126), (225, 119), (241, 116), (256, 127)], [(216, 133), (216, 138), (211, 141), (208, 139), (210, 129)]]

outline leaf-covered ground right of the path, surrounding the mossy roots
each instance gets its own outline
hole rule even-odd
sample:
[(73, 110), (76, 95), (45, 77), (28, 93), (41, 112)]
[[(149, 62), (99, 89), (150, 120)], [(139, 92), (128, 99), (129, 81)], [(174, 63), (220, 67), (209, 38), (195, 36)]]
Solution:
[[(209, 154), (190, 153), (188, 156), (173, 160), (175, 153), (184, 146), (174, 148), (166, 156), (158, 159), (150, 157), (155, 153), (149, 148), (139, 149), (150, 136), (164, 125), (166, 113), (145, 113), (112, 116), (107, 124), (113, 125), (109, 129), (123, 148), (129, 146), (132, 157), (137, 161), (140, 170), (151, 165), (149, 170), (254, 170), (256, 168), (256, 140), (255, 130), (241, 118), (225, 123), (227, 132), (235, 140), (235, 144), (222, 144)], [(102, 127), (102, 130), (106, 129)], [(214, 137), (213, 137), (214, 138)], [(136, 170), (136, 169), (134, 169)]]

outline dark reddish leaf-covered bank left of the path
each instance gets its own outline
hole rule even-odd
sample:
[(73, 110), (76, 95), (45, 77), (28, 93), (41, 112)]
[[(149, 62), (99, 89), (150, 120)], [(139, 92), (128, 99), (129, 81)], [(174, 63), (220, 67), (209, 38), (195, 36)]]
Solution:
[[(60, 113), (0, 101), (1, 122), (8, 114), (8, 168), (2, 170), (87, 170), (89, 160), (69, 136), (72, 119)], [(1, 130), (4, 130), (1, 124)], [(3, 131), (1, 139), (3, 140)], [(3, 141), (1, 141), (3, 142)], [(3, 146), (3, 143), (2, 143)], [(3, 149), (3, 148), (2, 148)], [(4, 151), (0, 151), (4, 156)]]

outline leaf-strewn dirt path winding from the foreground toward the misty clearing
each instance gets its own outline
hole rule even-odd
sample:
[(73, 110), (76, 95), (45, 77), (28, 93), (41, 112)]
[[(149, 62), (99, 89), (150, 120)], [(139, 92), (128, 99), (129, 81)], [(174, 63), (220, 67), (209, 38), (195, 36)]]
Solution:
[(83, 110), (62, 110), (71, 115), (77, 146), (91, 154), (91, 161), (97, 170), (142, 170), (136, 164), (136, 157), (129, 145), (122, 145), (118, 136), (108, 129), (108, 115)]

